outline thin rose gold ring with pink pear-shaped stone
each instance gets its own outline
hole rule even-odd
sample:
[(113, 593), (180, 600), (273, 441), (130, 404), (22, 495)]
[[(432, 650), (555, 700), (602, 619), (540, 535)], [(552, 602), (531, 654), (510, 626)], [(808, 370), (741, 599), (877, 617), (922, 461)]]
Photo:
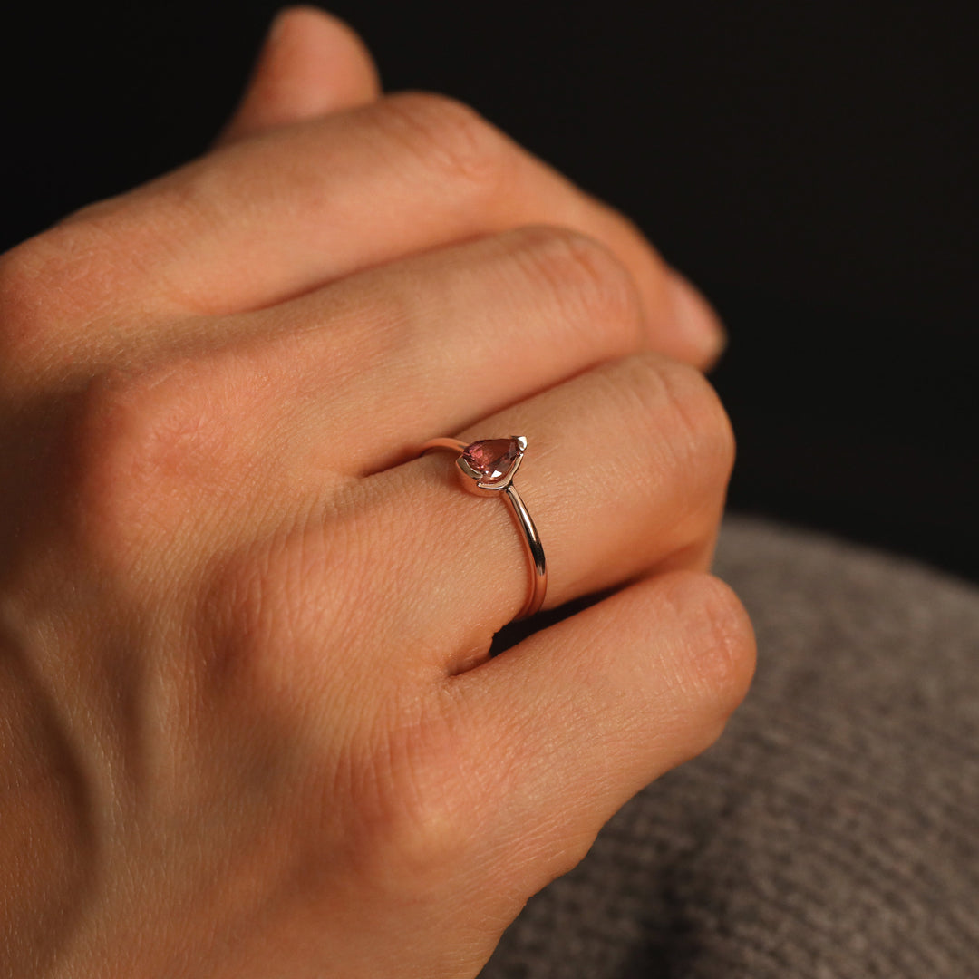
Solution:
[(422, 445), (421, 454), (433, 448), (450, 448), (459, 453), (455, 460), (456, 469), (463, 477), (466, 489), (477, 496), (491, 496), (502, 493), (510, 508), (521, 540), (527, 554), (527, 564), (531, 572), (531, 586), (527, 601), (517, 614), (518, 619), (534, 615), (543, 604), (547, 593), (547, 565), (540, 536), (520, 493), (513, 485), (513, 477), (520, 468), (527, 450), (527, 440), (523, 436), (509, 439), (482, 439), (479, 442), (465, 443), (458, 439), (432, 439)]

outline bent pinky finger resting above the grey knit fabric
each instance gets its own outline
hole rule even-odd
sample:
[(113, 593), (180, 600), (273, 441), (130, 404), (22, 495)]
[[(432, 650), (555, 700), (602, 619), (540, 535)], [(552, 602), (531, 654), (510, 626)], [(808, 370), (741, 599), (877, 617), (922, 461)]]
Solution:
[(509, 855), (497, 885), (529, 896), (579, 862), (631, 796), (714, 742), (754, 664), (734, 593), (674, 572), (457, 676), (467, 735), (497, 761), (481, 781), (483, 828)]

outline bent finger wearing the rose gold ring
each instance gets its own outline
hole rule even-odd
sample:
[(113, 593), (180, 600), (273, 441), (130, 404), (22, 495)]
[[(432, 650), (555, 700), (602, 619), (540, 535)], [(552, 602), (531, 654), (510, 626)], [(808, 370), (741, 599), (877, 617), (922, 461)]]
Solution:
[[(657, 354), (630, 356), (460, 438), (510, 435), (529, 443), (515, 483), (547, 557), (545, 607), (654, 569), (710, 563), (733, 439), (720, 401), (695, 370)], [(348, 579), (386, 596), (380, 621), (388, 639), (424, 649), (431, 635), (447, 636), (450, 648), (432, 654), (440, 667), (447, 658), (450, 671), (485, 657), (493, 633), (522, 608), (529, 582), (502, 501), (461, 488), (442, 452), (380, 473), (353, 496), (350, 535), (367, 546), (356, 549), (360, 564)], [(396, 561), (387, 560), (385, 540), (398, 542)]]

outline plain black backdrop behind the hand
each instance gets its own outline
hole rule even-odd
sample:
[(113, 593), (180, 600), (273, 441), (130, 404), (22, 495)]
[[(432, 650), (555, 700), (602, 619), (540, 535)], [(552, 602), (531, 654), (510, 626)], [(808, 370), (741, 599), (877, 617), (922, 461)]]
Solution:
[[(196, 155), (276, 4), (4, 14), (6, 248)], [(740, 508), (979, 580), (971, 4), (356, 2), (389, 88), (473, 104), (701, 284)]]

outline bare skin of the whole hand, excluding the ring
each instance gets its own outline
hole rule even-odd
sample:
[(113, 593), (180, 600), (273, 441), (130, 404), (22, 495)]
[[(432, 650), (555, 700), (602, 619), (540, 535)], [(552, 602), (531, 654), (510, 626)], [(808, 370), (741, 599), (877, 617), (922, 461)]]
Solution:
[[(753, 669), (709, 306), (273, 24), (212, 151), (0, 258), (0, 972), (474, 976)], [(434, 435), (526, 435), (547, 608)]]

